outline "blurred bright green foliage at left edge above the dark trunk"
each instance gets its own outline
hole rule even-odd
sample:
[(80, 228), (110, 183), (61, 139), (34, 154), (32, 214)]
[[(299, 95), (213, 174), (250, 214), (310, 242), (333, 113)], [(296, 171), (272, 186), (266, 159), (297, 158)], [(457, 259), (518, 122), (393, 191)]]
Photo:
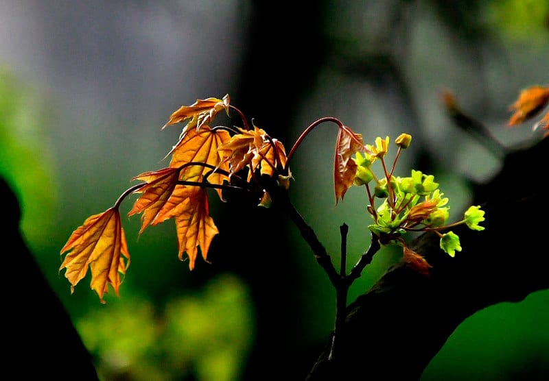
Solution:
[(57, 202), (47, 125), (51, 108), (38, 90), (0, 68), (0, 175), (21, 203), (21, 230), (34, 245), (47, 241)]

